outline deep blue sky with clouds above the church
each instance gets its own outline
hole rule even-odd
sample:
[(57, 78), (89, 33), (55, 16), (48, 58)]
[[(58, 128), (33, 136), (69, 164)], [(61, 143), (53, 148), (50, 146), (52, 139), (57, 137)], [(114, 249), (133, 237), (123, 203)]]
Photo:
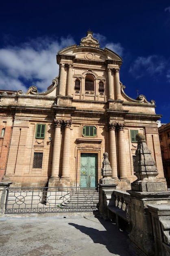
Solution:
[(0, 11), (0, 89), (45, 91), (58, 75), (57, 52), (88, 29), (123, 58), (125, 92), (156, 101), (170, 122), (170, 0), (6, 0)]

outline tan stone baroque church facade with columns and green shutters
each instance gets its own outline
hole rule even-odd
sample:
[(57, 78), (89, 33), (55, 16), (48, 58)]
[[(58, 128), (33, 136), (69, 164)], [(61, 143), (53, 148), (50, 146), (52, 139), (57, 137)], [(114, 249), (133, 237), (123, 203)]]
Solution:
[(103, 153), (113, 183), (130, 189), (137, 133), (145, 134), (165, 182), (155, 101), (132, 99), (120, 82), (122, 58), (101, 49), (91, 31), (80, 45), (57, 54), (59, 76), (46, 92), (2, 92), (0, 99), (3, 182), (11, 186), (96, 187)]

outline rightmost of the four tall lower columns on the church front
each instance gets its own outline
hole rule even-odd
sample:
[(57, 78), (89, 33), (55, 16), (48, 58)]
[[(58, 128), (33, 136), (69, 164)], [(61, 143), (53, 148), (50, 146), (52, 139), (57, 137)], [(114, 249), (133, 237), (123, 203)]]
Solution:
[(124, 141), (124, 124), (118, 124), (118, 140), (119, 140), (119, 168), (120, 179), (127, 179), (126, 173), (126, 151)]

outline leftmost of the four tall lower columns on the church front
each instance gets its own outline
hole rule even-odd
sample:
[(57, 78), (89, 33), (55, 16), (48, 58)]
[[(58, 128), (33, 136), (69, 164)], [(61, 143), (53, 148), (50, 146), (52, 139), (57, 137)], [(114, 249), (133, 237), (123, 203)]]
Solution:
[(61, 125), (63, 120), (55, 120), (55, 133), (53, 142), (53, 152), (52, 152), (52, 170), (50, 178), (59, 178), (59, 164), (60, 164), (60, 152), (61, 152)]

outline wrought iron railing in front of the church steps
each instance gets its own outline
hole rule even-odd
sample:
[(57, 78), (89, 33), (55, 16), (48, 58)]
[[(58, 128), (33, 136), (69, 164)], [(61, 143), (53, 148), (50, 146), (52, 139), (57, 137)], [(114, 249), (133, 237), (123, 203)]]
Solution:
[(6, 214), (94, 211), (96, 189), (80, 187), (9, 188)]

